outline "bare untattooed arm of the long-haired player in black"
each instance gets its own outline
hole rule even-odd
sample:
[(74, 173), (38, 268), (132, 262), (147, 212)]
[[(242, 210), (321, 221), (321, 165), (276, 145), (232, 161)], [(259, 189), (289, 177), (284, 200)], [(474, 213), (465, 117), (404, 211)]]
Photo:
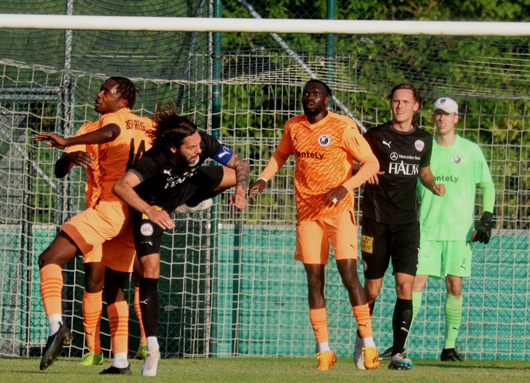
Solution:
[(131, 171), (127, 171), (116, 181), (116, 184), (112, 187), (112, 193), (130, 207), (147, 215), (149, 221), (156, 223), (162, 229), (174, 228), (175, 224), (166, 211), (154, 209), (136, 193), (133, 188), (139, 184), (140, 179), (138, 176)]

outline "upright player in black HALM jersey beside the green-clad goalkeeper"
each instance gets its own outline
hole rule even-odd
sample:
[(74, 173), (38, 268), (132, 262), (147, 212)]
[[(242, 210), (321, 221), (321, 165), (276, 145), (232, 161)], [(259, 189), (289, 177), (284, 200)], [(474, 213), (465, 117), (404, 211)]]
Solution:
[(412, 318), (412, 282), (420, 247), (417, 179), (435, 195), (445, 193), (445, 186), (436, 184), (429, 167), (432, 137), (412, 124), (419, 101), (420, 92), (412, 84), (394, 86), (391, 123), (369, 129), (364, 135), (379, 161), (379, 171), (365, 184), (363, 197), (361, 254), (366, 299), (371, 313), (392, 258), (397, 297), (388, 368), (399, 370), (412, 368), (403, 352)]

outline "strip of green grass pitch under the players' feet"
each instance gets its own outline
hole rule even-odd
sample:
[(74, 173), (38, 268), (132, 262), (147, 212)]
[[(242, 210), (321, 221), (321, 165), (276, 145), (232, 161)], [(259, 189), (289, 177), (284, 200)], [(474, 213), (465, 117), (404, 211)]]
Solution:
[(98, 376), (110, 366), (81, 367), (78, 358), (60, 358), (47, 371), (39, 370), (39, 359), (0, 359), (0, 377), (4, 382), (523, 382), (530, 379), (528, 361), (413, 360), (411, 371), (389, 371), (387, 361), (371, 371), (357, 370), (351, 359), (340, 358), (330, 371), (316, 371), (315, 358), (226, 358), (165, 359), (158, 364), (158, 376), (140, 376), (142, 362), (131, 361), (133, 376)]

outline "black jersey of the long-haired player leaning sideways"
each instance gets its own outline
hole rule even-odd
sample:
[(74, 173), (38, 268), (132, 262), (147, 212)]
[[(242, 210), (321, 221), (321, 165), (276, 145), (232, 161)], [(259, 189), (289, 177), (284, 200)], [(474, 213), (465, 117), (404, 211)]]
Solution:
[(136, 193), (149, 205), (156, 205), (171, 212), (185, 202), (181, 200), (191, 177), (197, 173), (207, 158), (213, 158), (223, 147), (214, 136), (201, 132), (199, 134), (202, 152), (195, 163), (173, 162), (169, 150), (158, 150), (153, 147), (129, 169), (141, 182), (134, 188)]

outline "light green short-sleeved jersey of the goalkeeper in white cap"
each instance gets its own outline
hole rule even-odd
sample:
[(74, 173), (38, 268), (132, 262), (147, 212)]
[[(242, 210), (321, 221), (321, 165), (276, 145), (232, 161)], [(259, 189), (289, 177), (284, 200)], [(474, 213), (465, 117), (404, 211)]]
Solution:
[(491, 181), (482, 150), (458, 135), (451, 146), (439, 146), (433, 137), (430, 170), (446, 191), (435, 196), (418, 180), (421, 239), (470, 241), (476, 184)]

